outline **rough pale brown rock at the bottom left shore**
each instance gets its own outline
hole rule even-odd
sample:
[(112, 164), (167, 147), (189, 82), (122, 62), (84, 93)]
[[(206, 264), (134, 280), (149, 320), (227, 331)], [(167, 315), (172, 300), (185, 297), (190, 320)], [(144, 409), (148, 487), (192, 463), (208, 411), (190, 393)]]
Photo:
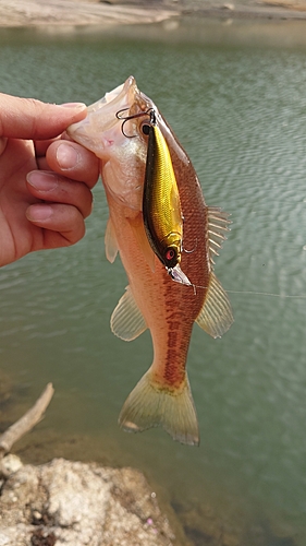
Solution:
[(0, 497), (0, 546), (171, 546), (142, 473), (54, 459), (21, 466)]

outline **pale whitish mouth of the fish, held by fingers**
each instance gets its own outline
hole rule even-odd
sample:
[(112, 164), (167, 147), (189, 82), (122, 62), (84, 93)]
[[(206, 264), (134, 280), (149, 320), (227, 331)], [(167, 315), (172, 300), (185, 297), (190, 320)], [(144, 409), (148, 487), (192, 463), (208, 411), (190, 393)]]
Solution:
[[(98, 157), (113, 141), (113, 131), (121, 127), (119, 111), (131, 111), (144, 102), (133, 75), (87, 108), (87, 117), (71, 124), (66, 132), (75, 142), (94, 152)], [(137, 106), (142, 109), (140, 105)], [(124, 135), (122, 134), (122, 138)]]

